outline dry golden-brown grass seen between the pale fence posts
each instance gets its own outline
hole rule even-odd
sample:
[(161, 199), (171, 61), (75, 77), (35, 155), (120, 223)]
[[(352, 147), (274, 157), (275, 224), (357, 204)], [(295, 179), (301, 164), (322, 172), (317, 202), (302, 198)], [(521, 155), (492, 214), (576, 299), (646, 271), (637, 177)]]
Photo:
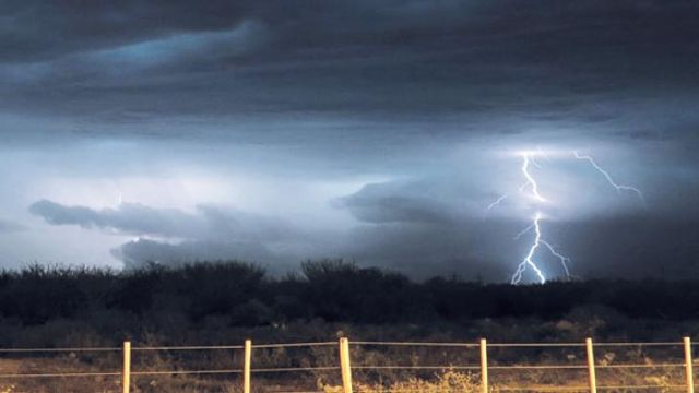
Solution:
[[(151, 343), (153, 345), (157, 342)], [(584, 365), (584, 354), (580, 348), (493, 348), (493, 366), (580, 366)], [(138, 371), (238, 369), (241, 365), (239, 352), (137, 352), (133, 367)], [(597, 380), (601, 386), (652, 386), (657, 393), (677, 391), (684, 383), (682, 352), (672, 347), (601, 347), (595, 352)], [(120, 354), (66, 354), (46, 356), (4, 355), (0, 359), (2, 373), (34, 372), (104, 372), (120, 369)], [(477, 365), (477, 352), (463, 348), (381, 348), (377, 346), (354, 347), (352, 350), (354, 386), (357, 393), (393, 392), (479, 392), (479, 374), (460, 372), (447, 368), (434, 373), (426, 370), (386, 369), (386, 366), (425, 365)], [(670, 364), (670, 367), (667, 366)], [(608, 368), (639, 365), (640, 368)], [(253, 366), (260, 368), (315, 368), (336, 367), (337, 354), (334, 346), (311, 348), (257, 349)], [(372, 368), (376, 367), (376, 368)], [(134, 376), (132, 392), (181, 392), (181, 393), (234, 393), (240, 391), (240, 376)], [(587, 369), (502, 369), (490, 373), (491, 392), (501, 388), (526, 386), (530, 391), (556, 391), (557, 388), (581, 388), (585, 391)], [(253, 374), (253, 391), (322, 391), (341, 392), (339, 370), (309, 370), (305, 372), (272, 372)], [(104, 378), (46, 378), (0, 380), (0, 393), (117, 393), (120, 392), (118, 377)], [(605, 392), (630, 393), (631, 388), (605, 389)]]

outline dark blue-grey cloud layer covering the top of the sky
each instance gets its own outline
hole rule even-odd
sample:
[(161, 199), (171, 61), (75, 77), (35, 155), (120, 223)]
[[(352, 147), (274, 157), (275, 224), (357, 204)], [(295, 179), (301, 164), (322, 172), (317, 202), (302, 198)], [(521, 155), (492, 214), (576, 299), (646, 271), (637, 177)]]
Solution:
[(14, 75), (5, 105), (99, 121), (280, 112), (604, 119), (618, 116), (613, 103), (692, 87), (699, 64), (699, 8), (689, 1), (3, 7), (1, 61)]

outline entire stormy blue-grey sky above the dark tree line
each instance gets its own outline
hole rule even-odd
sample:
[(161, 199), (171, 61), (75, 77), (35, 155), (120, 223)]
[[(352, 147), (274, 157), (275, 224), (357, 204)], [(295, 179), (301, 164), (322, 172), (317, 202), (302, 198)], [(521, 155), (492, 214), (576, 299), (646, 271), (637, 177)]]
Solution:
[(546, 279), (568, 277), (549, 248), (573, 278), (699, 277), (698, 17), (0, 0), (0, 264), (342, 258), (510, 282), (538, 216)]

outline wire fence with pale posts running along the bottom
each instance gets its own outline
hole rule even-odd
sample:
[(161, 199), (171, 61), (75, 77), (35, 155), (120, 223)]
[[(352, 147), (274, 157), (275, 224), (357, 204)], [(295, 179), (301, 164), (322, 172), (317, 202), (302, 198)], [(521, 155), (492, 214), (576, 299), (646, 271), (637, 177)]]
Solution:
[[(247, 340), (244, 345), (224, 346), (131, 346), (121, 347), (72, 347), (72, 348), (0, 348), (0, 358), (8, 356), (46, 356), (46, 354), (75, 354), (111, 359), (111, 369), (71, 370), (59, 372), (8, 371), (0, 367), (0, 382), (7, 380), (74, 380), (80, 378), (111, 378), (118, 386), (115, 392), (135, 392), (135, 381), (145, 377), (217, 377), (230, 389), (242, 393), (274, 392), (305, 393), (324, 392), (315, 390), (284, 390), (285, 383), (275, 386), (258, 384), (263, 378), (284, 381), (298, 374), (327, 376), (334, 381), (332, 392), (419, 392), (419, 388), (395, 388), (388, 382), (423, 376), (429, 378), (437, 372), (464, 372), (472, 381), (470, 390), (460, 392), (695, 392), (692, 344), (689, 337), (678, 342), (638, 343), (438, 343), (438, 342), (339, 342), (254, 344)], [(399, 355), (400, 350), (418, 350), (411, 356)], [(625, 350), (619, 353), (618, 350)], [(662, 361), (648, 357), (649, 350), (659, 350)], [(306, 356), (291, 356), (289, 350), (305, 352)], [(323, 355), (321, 352), (324, 350)], [(449, 355), (448, 352), (455, 352)], [(508, 355), (506, 352), (533, 352), (528, 355)], [(545, 354), (545, 352), (554, 354)], [(222, 358), (210, 356), (217, 364), (230, 367), (180, 368), (174, 360), (153, 361), (144, 358), (133, 364), (134, 357), (149, 354), (173, 353), (222, 353)], [(439, 364), (429, 364), (436, 354)], [(599, 355), (595, 358), (595, 355)], [(168, 355), (171, 356), (171, 355)], [(437, 356), (438, 357), (438, 356)], [(224, 359), (225, 360), (221, 360)], [(426, 361), (427, 360), (427, 361)], [(2, 365), (2, 364), (0, 364)], [(78, 364), (82, 365), (82, 364)], [(103, 364), (100, 364), (103, 365)], [(167, 368), (159, 368), (167, 366)], [(391, 373), (390, 376), (387, 373)], [(412, 374), (411, 374), (412, 373)], [(269, 377), (272, 376), (272, 377)], [(359, 382), (353, 382), (359, 381)], [(374, 380), (374, 382), (372, 382)], [(377, 382), (378, 381), (378, 382)], [(81, 383), (81, 382), (75, 382)], [(288, 385), (288, 384), (286, 384)], [(19, 392), (3, 390), (0, 392)], [(266, 390), (265, 390), (266, 389)], [(450, 388), (451, 389), (451, 388)], [(436, 392), (437, 390), (431, 390)], [(457, 390), (446, 390), (453, 391)]]

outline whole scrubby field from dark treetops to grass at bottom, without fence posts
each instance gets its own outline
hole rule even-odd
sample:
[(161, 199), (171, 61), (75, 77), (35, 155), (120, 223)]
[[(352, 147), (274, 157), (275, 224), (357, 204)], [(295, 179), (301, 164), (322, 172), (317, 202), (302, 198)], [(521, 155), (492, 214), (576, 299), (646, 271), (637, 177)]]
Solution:
[(131, 392), (238, 392), (248, 338), (252, 391), (340, 392), (340, 337), (355, 392), (481, 392), (482, 337), (491, 391), (589, 391), (592, 337), (600, 391), (682, 392), (696, 284), (415, 283), (341, 261), (281, 278), (245, 263), (32, 267), (0, 275), (0, 392), (121, 392), (123, 341)]

